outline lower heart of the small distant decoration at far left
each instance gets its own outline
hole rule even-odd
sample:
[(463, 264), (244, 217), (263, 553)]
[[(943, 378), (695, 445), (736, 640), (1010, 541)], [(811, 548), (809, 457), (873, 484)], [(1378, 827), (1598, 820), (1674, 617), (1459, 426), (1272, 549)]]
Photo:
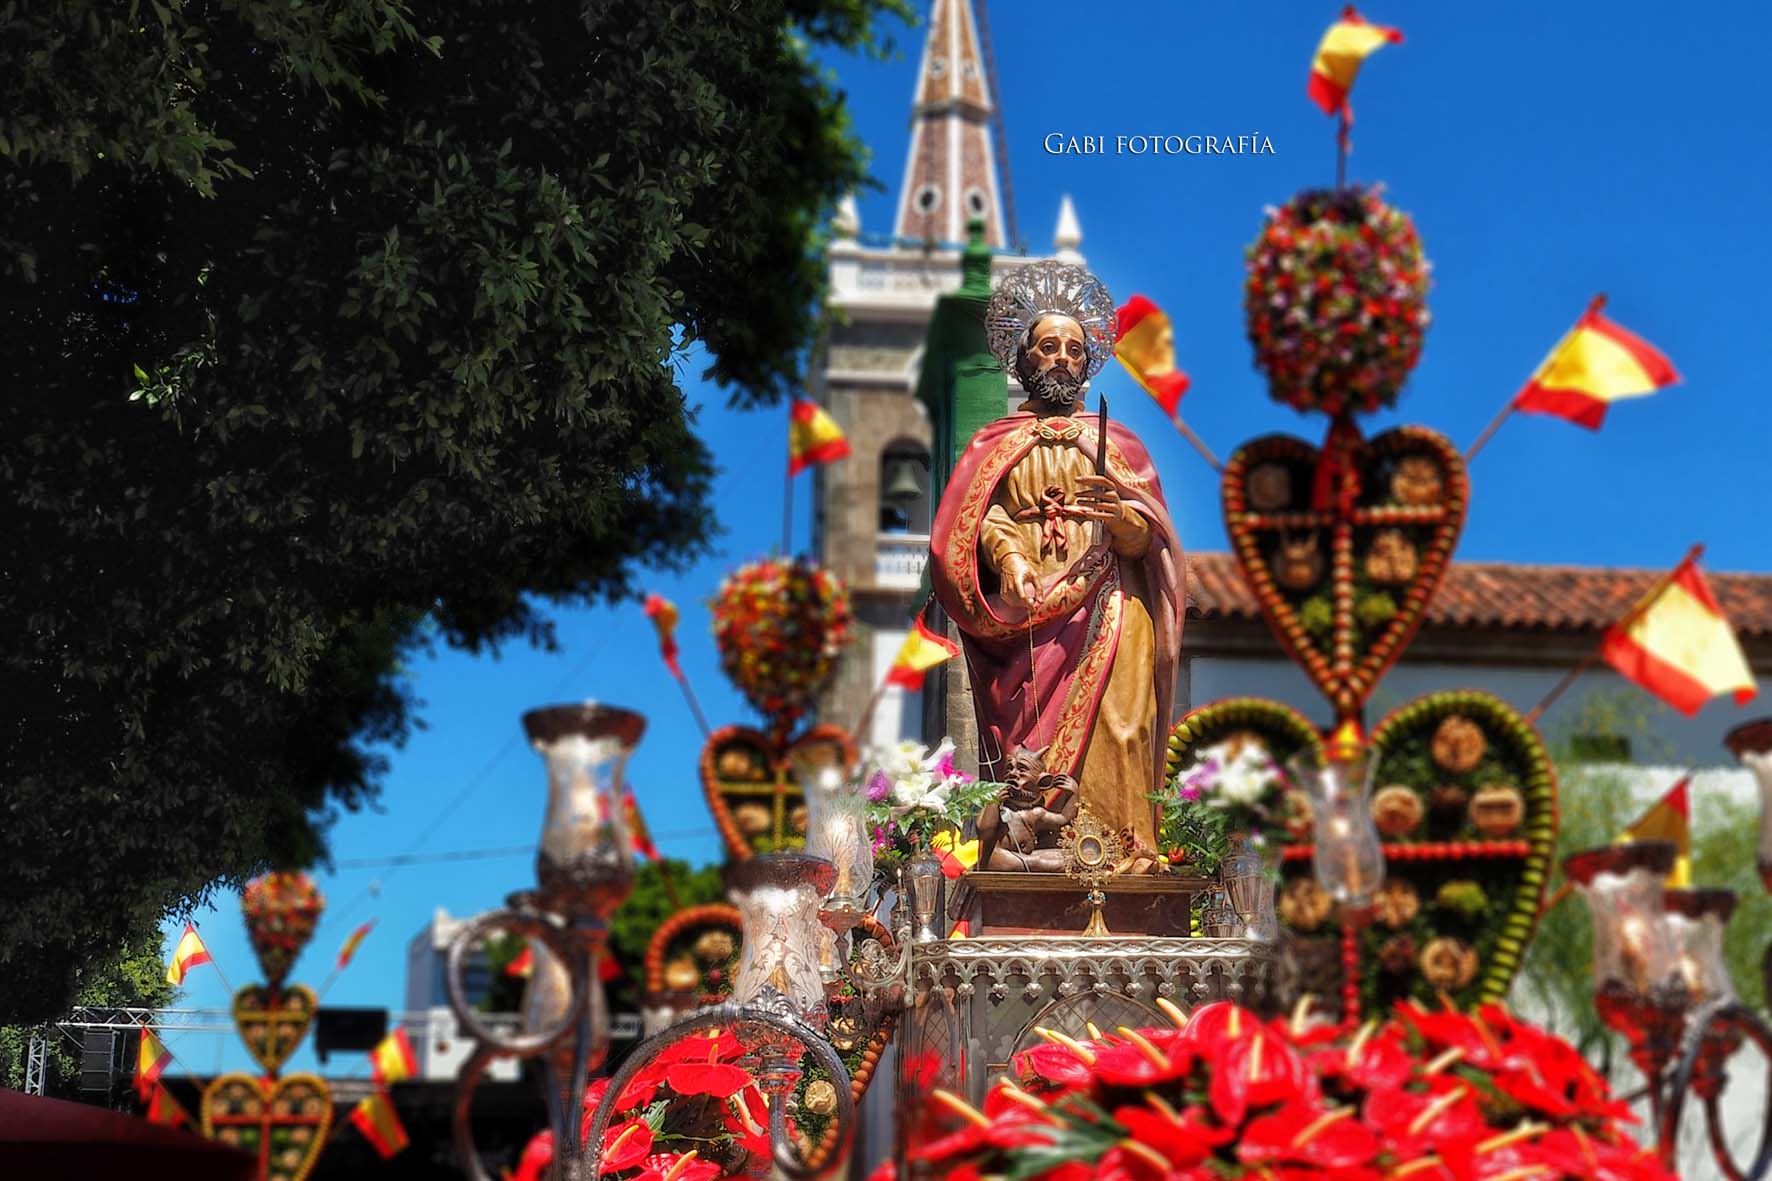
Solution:
[(204, 1137), (257, 1156), (262, 1181), (303, 1181), (331, 1130), (331, 1091), (315, 1075), (222, 1075), (200, 1110)]

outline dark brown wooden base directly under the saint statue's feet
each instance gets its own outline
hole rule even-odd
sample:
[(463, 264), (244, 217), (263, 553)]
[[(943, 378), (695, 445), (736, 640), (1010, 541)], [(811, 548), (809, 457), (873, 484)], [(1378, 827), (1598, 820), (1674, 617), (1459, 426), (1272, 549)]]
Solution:
[[(1102, 917), (1113, 935), (1177, 936), (1191, 931), (1194, 896), (1214, 881), (1198, 874), (1141, 874), (1109, 878), (1102, 890)], [(955, 890), (950, 913), (971, 922), (978, 938), (1012, 935), (1081, 935), (1090, 920), (1086, 887), (1065, 874), (1005, 874), (973, 871)]]

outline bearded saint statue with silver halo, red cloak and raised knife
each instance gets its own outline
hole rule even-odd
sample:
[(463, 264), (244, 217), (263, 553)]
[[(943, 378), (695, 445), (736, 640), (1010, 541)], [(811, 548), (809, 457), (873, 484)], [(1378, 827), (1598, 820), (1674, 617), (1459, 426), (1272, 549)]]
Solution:
[(1028, 401), (955, 461), (930, 530), (930, 575), (959, 624), (980, 773), (1017, 748), (1072, 775), (1090, 812), (1155, 844), (1180, 654), (1184, 564), (1143, 443), (1084, 413), (1113, 355), (1115, 305), (1077, 266), (1010, 273), (985, 312), (991, 351)]

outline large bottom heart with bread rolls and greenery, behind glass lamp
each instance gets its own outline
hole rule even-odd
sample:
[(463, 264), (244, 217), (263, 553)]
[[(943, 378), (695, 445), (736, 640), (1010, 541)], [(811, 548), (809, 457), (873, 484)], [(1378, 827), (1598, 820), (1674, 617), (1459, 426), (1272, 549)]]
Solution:
[[(1322, 738), (1294, 709), (1265, 699), (1201, 706), (1170, 732), (1171, 786), (1205, 750), (1253, 736), (1278, 761)], [(1263, 807), (1285, 844), (1281, 926), (1301, 979), (1320, 1002), (1341, 989), (1322, 981), (1350, 972), (1361, 1011), (1386, 1013), (1441, 993), (1460, 1005), (1499, 1000), (1543, 901), (1556, 844), (1556, 771), (1538, 732), (1490, 693), (1430, 693), (1372, 732), (1377, 755), (1372, 814), (1386, 853), (1386, 881), (1370, 915), (1343, 927), (1311, 878), (1310, 817)], [(1290, 832), (1288, 832), (1290, 830)], [(1285, 998), (1290, 1005), (1294, 998)], [(1343, 1013), (1343, 1016), (1350, 1016)]]

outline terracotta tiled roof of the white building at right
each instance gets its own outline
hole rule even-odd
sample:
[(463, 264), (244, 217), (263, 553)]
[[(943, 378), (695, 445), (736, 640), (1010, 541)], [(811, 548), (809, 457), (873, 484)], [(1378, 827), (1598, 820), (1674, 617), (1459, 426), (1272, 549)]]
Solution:
[[(1666, 571), (1605, 566), (1453, 562), (1428, 605), (1430, 628), (1598, 631), (1630, 610)], [(1772, 575), (1705, 580), (1744, 638), (1772, 637)], [(1258, 619), (1255, 596), (1230, 553), (1187, 555), (1187, 614)]]

